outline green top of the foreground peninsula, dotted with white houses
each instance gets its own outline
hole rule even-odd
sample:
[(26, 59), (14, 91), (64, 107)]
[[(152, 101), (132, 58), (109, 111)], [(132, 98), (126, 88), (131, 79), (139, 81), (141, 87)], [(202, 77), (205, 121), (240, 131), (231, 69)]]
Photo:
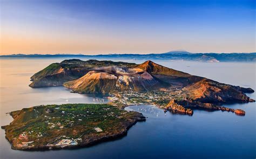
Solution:
[[(75, 146), (84, 134), (109, 131), (127, 113), (107, 104), (36, 106), (36, 118), (14, 132), (17, 147), (31, 148), (39, 142), (49, 147)], [(50, 139), (49, 139), (50, 137)]]

